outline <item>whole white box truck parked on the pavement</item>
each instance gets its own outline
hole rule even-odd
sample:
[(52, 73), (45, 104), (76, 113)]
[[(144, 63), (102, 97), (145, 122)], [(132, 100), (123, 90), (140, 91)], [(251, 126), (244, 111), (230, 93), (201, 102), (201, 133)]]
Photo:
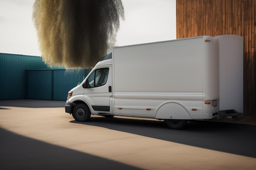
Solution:
[(243, 38), (200, 36), (116, 46), (68, 92), (65, 112), (164, 120), (180, 129), (188, 120), (243, 113)]

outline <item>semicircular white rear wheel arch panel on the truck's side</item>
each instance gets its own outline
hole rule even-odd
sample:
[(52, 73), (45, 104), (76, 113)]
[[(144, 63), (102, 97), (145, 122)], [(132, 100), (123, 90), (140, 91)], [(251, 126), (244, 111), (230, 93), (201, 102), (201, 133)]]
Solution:
[(157, 108), (156, 119), (192, 119), (191, 113), (179, 102), (166, 102)]

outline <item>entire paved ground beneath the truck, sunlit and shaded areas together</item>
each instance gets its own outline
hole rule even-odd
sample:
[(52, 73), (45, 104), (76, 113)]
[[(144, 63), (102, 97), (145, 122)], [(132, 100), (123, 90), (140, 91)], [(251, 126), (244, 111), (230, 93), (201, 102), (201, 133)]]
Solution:
[(64, 105), (0, 100), (0, 170), (256, 169), (255, 126), (202, 121), (171, 130), (163, 121), (99, 116), (79, 123)]

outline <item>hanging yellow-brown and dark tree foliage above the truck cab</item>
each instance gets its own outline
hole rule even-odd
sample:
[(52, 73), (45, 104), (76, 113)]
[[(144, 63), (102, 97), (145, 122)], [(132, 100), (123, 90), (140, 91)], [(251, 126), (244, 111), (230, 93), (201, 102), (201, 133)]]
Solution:
[(33, 22), (45, 63), (92, 68), (114, 46), (121, 0), (36, 0)]

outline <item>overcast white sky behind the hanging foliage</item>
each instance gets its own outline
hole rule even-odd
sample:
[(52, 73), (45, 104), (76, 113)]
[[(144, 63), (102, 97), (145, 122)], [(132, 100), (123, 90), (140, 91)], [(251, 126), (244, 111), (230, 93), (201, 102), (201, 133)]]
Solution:
[[(32, 22), (35, 0), (0, 0), (0, 53), (36, 55), (36, 30)], [(176, 0), (122, 0), (125, 21), (117, 46), (176, 39)]]

